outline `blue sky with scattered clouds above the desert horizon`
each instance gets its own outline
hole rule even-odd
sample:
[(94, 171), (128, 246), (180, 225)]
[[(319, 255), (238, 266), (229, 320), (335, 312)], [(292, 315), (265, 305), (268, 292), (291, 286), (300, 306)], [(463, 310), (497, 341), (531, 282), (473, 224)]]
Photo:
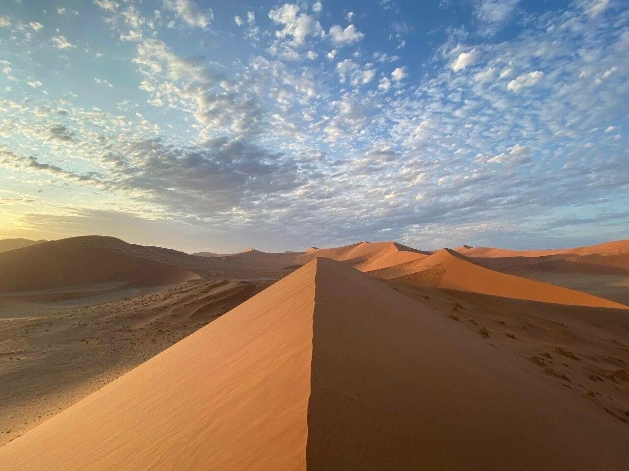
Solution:
[(0, 237), (625, 239), (628, 55), (624, 0), (3, 0)]

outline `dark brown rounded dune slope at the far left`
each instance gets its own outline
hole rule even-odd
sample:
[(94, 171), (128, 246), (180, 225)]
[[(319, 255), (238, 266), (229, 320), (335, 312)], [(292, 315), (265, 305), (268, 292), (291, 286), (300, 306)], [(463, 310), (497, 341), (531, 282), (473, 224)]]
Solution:
[(0, 253), (0, 293), (114, 281), (159, 286), (199, 278), (176, 266), (115, 251), (101, 240), (71, 237)]

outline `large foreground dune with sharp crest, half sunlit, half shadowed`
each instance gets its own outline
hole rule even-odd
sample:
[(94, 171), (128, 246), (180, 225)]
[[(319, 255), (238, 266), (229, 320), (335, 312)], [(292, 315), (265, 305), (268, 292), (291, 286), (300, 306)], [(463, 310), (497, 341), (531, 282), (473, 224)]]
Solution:
[(13, 471), (628, 467), (626, 425), (536, 368), (320, 258), (4, 445), (0, 462)]

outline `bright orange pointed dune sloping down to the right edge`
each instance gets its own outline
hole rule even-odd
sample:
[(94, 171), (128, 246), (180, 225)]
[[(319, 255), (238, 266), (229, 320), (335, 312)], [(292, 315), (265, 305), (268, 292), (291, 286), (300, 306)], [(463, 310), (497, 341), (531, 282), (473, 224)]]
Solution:
[(581, 291), (491, 270), (450, 249), (442, 249), (423, 259), (374, 271), (372, 274), (379, 278), (421, 286), (472, 291), (521, 300), (629, 309), (620, 303)]

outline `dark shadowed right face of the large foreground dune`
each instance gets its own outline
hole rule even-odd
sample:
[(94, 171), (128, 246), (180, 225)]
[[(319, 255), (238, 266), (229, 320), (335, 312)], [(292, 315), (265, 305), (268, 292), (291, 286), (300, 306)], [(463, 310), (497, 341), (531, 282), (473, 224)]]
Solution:
[(582, 401), (372, 279), (333, 266), (316, 285), (308, 469), (604, 468)]

